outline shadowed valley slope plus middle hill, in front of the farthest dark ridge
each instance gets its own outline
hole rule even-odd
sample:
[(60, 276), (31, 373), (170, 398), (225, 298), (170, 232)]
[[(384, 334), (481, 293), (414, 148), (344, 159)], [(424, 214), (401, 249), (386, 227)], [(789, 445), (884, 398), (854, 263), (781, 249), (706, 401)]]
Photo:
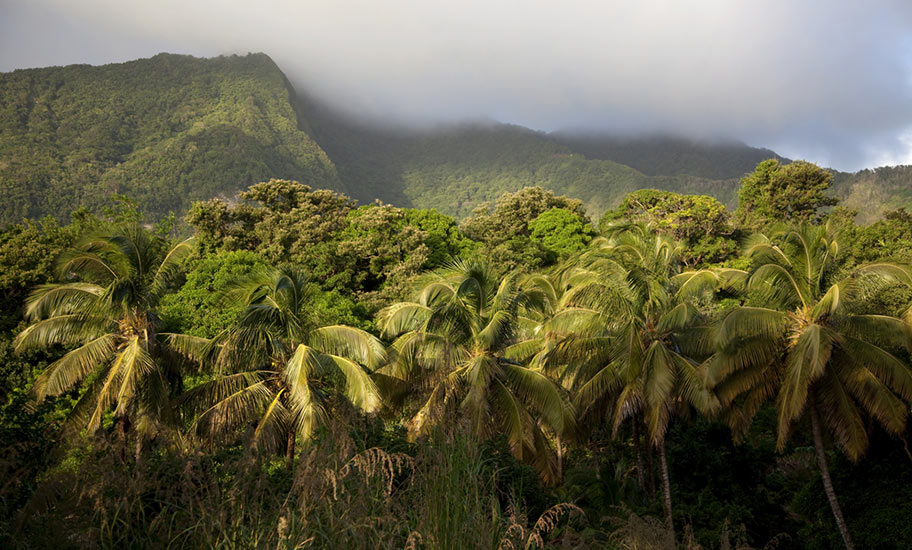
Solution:
[(737, 177), (648, 176), (611, 160), (587, 158), (548, 134), (520, 126), (381, 129), (346, 120), (313, 101), (304, 101), (302, 110), (346, 186), (362, 201), (380, 198), (462, 217), (505, 192), (538, 185), (583, 199), (597, 217), (626, 193), (646, 187), (711, 194), (728, 204), (736, 200)]

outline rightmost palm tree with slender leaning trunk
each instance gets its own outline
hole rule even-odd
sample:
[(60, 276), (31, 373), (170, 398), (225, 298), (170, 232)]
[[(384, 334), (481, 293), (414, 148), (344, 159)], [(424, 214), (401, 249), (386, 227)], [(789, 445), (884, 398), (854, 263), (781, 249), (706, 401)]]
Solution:
[[(744, 430), (762, 403), (776, 397), (778, 447), (809, 418), (824, 491), (847, 549), (853, 548), (827, 468), (823, 431), (857, 461), (868, 446), (863, 420), (888, 432), (905, 427), (912, 374), (895, 352), (912, 350), (902, 319), (861, 313), (867, 292), (912, 279), (892, 264), (862, 266), (840, 276), (838, 240), (826, 227), (802, 225), (747, 250), (755, 267), (748, 305), (728, 313), (713, 359), (724, 405), (740, 404), (733, 427)], [(740, 416), (740, 418), (739, 418)]]

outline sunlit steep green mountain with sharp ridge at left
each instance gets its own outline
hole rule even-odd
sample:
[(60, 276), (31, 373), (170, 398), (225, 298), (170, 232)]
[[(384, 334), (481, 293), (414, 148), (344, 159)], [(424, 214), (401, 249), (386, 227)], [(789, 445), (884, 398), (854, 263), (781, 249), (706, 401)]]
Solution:
[(151, 215), (270, 177), (338, 189), (269, 57), (161, 54), (0, 74), (0, 222), (98, 208)]

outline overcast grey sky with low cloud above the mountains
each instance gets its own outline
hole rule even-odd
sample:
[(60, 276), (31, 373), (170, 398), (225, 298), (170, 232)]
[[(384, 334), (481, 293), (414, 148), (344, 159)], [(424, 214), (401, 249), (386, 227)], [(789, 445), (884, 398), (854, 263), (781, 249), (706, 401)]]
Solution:
[(0, 71), (162, 51), (262, 51), (299, 89), (380, 119), (912, 163), (910, 0), (0, 0)]

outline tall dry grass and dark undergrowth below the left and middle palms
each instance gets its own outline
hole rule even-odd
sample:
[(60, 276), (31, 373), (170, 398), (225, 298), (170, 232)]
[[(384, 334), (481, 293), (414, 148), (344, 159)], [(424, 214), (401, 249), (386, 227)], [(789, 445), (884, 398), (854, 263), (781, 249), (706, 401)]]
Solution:
[(159, 449), (123, 462), (98, 440), (45, 476), (12, 547), (532, 549), (582, 515), (566, 505), (527, 519), (473, 442), (440, 437), (417, 449), (331, 437), (291, 474), (242, 450)]

